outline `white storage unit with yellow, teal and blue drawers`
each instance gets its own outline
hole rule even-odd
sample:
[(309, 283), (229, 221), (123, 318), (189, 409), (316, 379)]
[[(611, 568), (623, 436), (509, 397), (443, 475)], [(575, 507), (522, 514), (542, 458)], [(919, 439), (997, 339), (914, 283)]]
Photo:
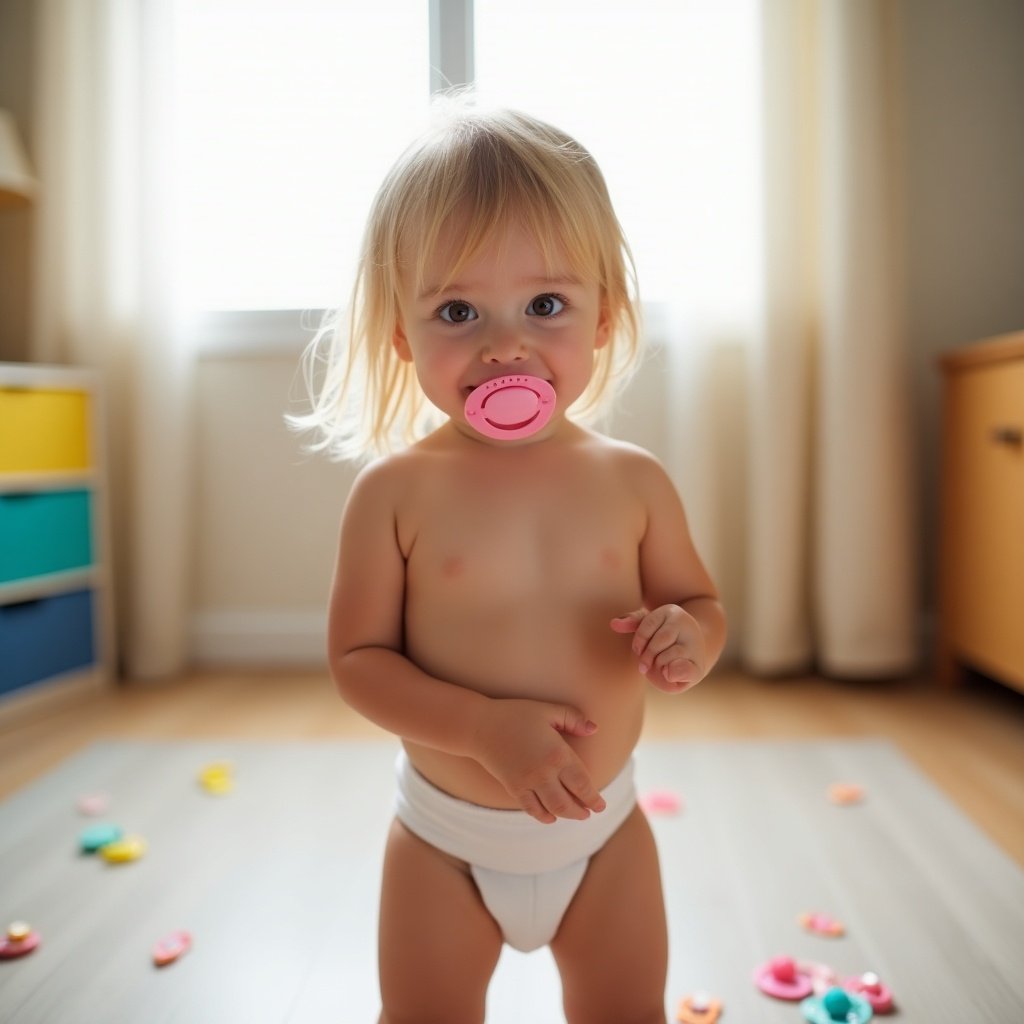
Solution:
[(109, 675), (100, 422), (92, 374), (0, 364), (0, 702)]

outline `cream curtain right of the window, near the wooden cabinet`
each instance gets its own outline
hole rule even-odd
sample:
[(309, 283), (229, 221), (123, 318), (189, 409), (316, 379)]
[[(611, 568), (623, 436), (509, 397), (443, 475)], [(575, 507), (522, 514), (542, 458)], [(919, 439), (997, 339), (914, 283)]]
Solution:
[[(719, 475), (698, 522), (750, 669), (903, 675), (918, 602), (893, 10), (762, 12), (762, 317), (746, 347), (705, 339)], [(727, 453), (742, 469), (722, 476)]]

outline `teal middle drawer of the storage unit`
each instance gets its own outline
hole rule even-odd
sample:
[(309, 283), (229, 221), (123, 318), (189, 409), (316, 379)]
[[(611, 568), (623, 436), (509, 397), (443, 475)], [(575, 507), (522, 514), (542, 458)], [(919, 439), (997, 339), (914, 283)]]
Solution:
[(0, 495), (0, 584), (92, 564), (88, 490)]

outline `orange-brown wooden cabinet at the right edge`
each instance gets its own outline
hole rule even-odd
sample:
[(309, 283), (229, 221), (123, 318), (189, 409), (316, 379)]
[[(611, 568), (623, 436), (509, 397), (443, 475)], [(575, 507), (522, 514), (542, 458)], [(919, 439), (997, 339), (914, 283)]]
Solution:
[(1024, 331), (941, 366), (940, 676), (1024, 691)]

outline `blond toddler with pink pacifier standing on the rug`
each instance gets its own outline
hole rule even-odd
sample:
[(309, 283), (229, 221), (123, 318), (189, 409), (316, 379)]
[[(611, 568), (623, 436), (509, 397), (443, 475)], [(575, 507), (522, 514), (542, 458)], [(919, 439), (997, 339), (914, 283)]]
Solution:
[(648, 686), (718, 658), (722, 608), (653, 457), (588, 428), (637, 357), (594, 160), (452, 103), (374, 202), (307, 426), (359, 473), (329, 657), (400, 737), (382, 1024), (479, 1024), (502, 945), (551, 948), (569, 1024), (664, 1024), (667, 929), (632, 753)]

